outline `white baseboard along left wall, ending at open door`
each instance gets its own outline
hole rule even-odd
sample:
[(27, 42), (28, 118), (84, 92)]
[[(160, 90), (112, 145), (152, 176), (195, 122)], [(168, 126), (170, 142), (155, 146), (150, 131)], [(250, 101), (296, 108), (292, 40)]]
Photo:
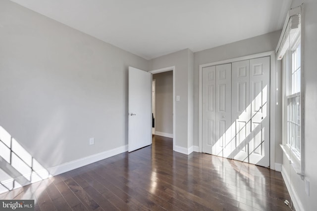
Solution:
[[(101, 152), (101, 153), (98, 153), (98, 154), (95, 154), (95, 155), (88, 156), (88, 157), (85, 157), (85, 158), (81, 158), (81, 159), (78, 159), (78, 160), (74, 160), (74, 161), (71, 161), (71, 162), (60, 164), (58, 166), (51, 167), (51, 168), (48, 168), (48, 169), (41, 169), (41, 170), (38, 170), (36, 172), (33, 172), (31, 174), (31, 177), (30, 177), (30, 174), (23, 175), (23, 177), (32, 178), (32, 181), (30, 183), (38, 182), (38, 181), (41, 181), (43, 179), (47, 179), (49, 177), (52, 177), (52, 176), (55, 176), (55, 175), (58, 175), (58, 174), (61, 174), (61, 173), (65, 173), (67, 171), (70, 171), (70, 170), (73, 170), (73, 169), (78, 169), (80, 167), (83, 167), (83, 166), (86, 166), (86, 165), (89, 165), (89, 164), (104, 160), (106, 158), (118, 155), (118, 154), (126, 152), (126, 151), (128, 151), (128, 145), (124, 145), (124, 146), (121, 146), (121, 147), (117, 147), (115, 149), (111, 149), (111, 150), (108, 150), (108, 151), (105, 151), (105, 152)], [(5, 180), (5, 181), (1, 181), (1, 183), (2, 183), (3, 186), (9, 187), (8, 189), (10, 189), (10, 190), (22, 187), (17, 182), (15, 182), (15, 185), (14, 185), (14, 188), (13, 188), (12, 183), (14, 181), (15, 180), (13, 178), (11, 178), (11, 179), (8, 179), (8, 180)], [(0, 194), (9, 191), (5, 187), (3, 187), (2, 185), (0, 185)], [(27, 185), (27, 184), (23, 184), (23, 185)]]

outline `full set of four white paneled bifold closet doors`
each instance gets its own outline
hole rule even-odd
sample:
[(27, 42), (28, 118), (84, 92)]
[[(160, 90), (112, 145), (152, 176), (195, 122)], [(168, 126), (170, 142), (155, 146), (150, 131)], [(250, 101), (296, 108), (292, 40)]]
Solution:
[(269, 166), (269, 75), (269, 56), (203, 68), (203, 152)]

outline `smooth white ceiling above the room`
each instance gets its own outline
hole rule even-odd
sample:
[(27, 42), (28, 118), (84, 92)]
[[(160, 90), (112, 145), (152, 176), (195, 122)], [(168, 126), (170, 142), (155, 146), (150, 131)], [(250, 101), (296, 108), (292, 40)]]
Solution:
[(146, 59), (279, 30), (292, 0), (12, 0)]

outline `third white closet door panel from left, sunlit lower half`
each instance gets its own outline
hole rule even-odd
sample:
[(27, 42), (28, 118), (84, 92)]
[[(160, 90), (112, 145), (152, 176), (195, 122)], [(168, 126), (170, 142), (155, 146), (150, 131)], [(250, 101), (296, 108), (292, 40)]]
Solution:
[(249, 60), (232, 63), (232, 159), (249, 162), (251, 132)]

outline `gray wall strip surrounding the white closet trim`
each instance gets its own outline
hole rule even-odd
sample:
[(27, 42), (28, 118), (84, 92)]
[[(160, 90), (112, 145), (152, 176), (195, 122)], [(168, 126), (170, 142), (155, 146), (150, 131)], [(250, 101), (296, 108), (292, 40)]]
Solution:
[[(281, 31), (276, 31), (194, 53), (194, 146), (199, 146), (199, 65), (275, 50), (280, 34)], [(278, 84), (281, 83), (281, 78), (279, 78)], [(274, 86), (275, 84), (271, 84), (271, 88), (274, 88)], [(278, 100), (281, 102), (281, 94), (278, 93), (278, 96)], [(279, 121), (282, 118), (281, 103), (276, 106), (276, 110), (280, 113), (275, 115), (277, 124), (275, 127), (275, 142), (278, 146), (275, 150), (275, 163), (282, 163), (282, 150), (279, 147), (279, 144), (282, 143), (280, 139), (282, 124)]]

